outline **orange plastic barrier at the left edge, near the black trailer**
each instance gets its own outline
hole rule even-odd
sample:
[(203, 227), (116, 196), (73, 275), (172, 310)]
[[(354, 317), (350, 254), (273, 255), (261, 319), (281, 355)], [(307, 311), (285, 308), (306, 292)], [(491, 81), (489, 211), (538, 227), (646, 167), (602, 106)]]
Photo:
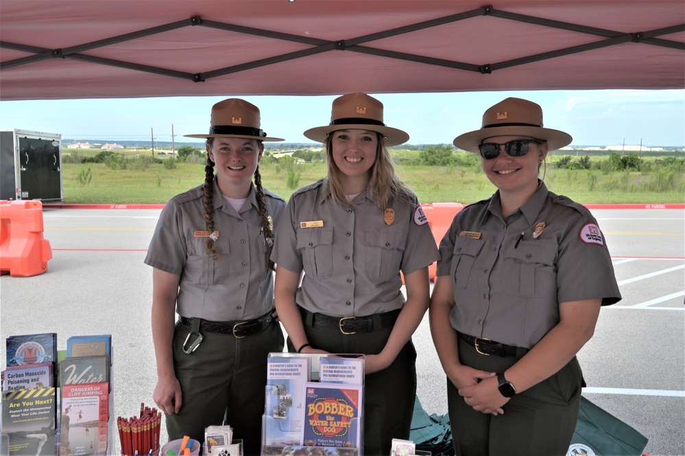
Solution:
[(43, 239), (43, 203), (0, 201), (0, 275), (30, 277), (47, 271), (50, 242)]

